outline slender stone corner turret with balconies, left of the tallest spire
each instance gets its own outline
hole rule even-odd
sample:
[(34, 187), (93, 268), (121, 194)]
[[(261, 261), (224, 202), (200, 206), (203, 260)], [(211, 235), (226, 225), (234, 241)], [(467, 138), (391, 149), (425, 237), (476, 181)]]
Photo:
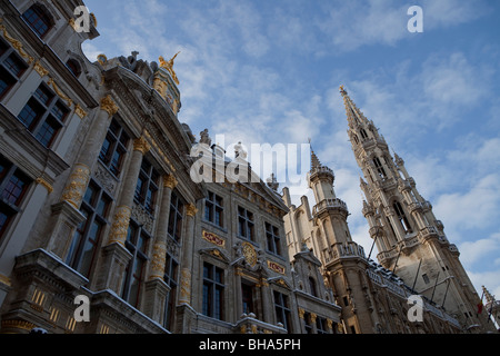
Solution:
[[(371, 310), (362, 296), (366, 295), (368, 268), (364, 250), (352, 240), (344, 201), (337, 198), (333, 189), (334, 174), (321, 165), (311, 149), (309, 187), (316, 198), (312, 219), (318, 227), (312, 241), (323, 266), (323, 275), (333, 290), (337, 304), (342, 306), (344, 332), (349, 334), (372, 333)], [(363, 287), (364, 286), (364, 287)], [(354, 300), (358, 299), (358, 303)]]

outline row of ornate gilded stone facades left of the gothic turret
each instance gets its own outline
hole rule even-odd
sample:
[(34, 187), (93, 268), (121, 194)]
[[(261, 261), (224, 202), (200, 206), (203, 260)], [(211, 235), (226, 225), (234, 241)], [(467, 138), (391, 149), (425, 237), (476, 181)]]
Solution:
[(177, 55), (89, 62), (81, 6), (0, 1), (1, 332), (337, 333), (276, 182), (193, 180), (193, 146), (221, 148), (178, 119)]

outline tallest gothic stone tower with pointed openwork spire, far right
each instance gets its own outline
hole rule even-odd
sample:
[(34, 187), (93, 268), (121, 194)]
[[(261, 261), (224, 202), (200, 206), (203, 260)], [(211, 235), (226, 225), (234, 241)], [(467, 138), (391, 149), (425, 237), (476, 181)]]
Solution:
[(413, 286), (416, 294), (443, 307), (464, 328), (486, 330), (486, 318), (477, 315), (479, 296), (432, 205), (417, 190), (404, 161), (396, 154), (392, 157), (373, 121), (357, 108), (343, 87), (340, 92), (352, 150), (364, 177), (362, 212), (380, 264)]

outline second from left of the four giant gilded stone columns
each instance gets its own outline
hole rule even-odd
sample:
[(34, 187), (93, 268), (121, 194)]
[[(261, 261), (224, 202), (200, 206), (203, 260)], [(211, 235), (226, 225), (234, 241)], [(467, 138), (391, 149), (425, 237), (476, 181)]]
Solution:
[(101, 274), (97, 278), (96, 288), (111, 289), (120, 294), (123, 274), (132, 255), (124, 247), (132, 214), (133, 195), (139, 178), (142, 158), (149, 151), (150, 145), (143, 137), (133, 140), (132, 158), (124, 174), (123, 187), (116, 208), (113, 224), (108, 237), (108, 245), (102, 248), (103, 260)]

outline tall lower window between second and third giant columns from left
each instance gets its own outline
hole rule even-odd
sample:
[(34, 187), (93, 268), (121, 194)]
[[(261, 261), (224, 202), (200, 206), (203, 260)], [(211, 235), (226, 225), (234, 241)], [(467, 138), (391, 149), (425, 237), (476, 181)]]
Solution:
[(146, 230), (142, 229), (142, 226), (130, 220), (126, 247), (132, 255), (132, 258), (126, 268), (121, 296), (133, 307), (139, 306), (144, 278), (144, 267), (146, 261), (148, 260), (146, 254), (149, 240), (150, 237)]

